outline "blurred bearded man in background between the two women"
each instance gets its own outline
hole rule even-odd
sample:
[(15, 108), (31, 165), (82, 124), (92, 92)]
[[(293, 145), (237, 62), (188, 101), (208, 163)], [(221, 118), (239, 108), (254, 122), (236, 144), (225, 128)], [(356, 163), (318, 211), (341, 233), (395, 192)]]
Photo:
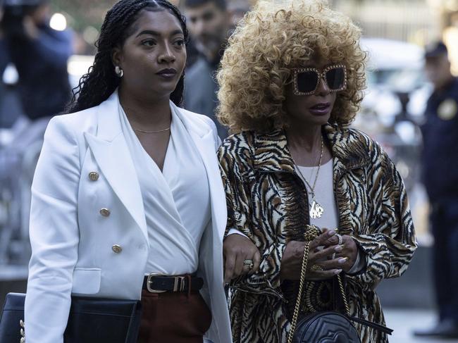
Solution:
[(211, 118), (224, 139), (228, 130), (216, 120), (218, 83), (214, 75), (230, 31), (230, 13), (225, 0), (185, 0), (184, 5), (190, 35), (200, 55), (186, 72), (185, 108)]

